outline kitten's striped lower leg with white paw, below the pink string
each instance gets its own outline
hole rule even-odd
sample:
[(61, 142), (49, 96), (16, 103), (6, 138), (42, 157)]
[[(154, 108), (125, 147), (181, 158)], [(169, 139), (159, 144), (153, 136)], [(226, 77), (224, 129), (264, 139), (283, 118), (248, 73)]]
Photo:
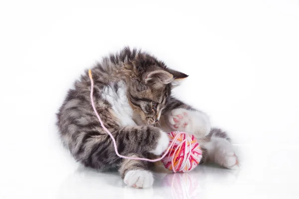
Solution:
[[(129, 154), (128, 157), (141, 157), (141, 155)], [(153, 175), (148, 170), (148, 167), (149, 162), (124, 159), (119, 172), (128, 186), (148, 188), (153, 184)]]

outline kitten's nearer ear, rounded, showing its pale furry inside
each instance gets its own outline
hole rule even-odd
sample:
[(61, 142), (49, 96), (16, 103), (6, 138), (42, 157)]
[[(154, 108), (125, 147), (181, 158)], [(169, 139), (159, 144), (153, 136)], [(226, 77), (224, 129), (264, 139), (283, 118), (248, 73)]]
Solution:
[(144, 82), (145, 84), (151, 84), (156, 87), (169, 84), (173, 81), (173, 75), (167, 71), (152, 71), (145, 75)]

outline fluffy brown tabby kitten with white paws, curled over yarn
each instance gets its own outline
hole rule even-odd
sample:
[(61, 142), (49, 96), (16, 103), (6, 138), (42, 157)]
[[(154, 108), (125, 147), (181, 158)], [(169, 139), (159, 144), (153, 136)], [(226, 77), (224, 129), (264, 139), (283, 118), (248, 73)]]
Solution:
[[(227, 134), (211, 129), (205, 113), (171, 96), (172, 87), (186, 74), (167, 68), (146, 52), (126, 47), (103, 58), (92, 68), (92, 75), (96, 109), (112, 132), (120, 154), (145, 158), (161, 155), (169, 141), (165, 132), (178, 130), (199, 138), (201, 163), (212, 161), (231, 169), (239, 167)], [(116, 155), (112, 139), (91, 106), (90, 85), (86, 70), (57, 113), (63, 143), (86, 167), (118, 168), (127, 185), (152, 186), (149, 162)]]

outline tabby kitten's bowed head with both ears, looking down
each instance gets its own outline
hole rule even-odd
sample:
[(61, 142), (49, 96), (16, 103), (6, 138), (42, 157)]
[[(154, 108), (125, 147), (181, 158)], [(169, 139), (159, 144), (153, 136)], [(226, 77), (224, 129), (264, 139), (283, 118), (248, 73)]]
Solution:
[(139, 125), (151, 125), (160, 119), (171, 88), (186, 74), (166, 68), (163, 62), (140, 53), (129, 66), (131, 71), (128, 99)]

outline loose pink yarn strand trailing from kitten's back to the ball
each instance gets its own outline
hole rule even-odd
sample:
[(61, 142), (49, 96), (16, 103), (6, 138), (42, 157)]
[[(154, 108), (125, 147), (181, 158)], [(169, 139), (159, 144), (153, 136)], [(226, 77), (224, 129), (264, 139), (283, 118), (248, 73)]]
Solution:
[[(93, 109), (94, 109), (94, 111), (95, 111), (95, 113), (96, 113), (96, 115), (97, 115), (97, 117), (98, 117), (98, 119), (99, 119), (99, 121), (101, 123), (102, 128), (110, 135), (110, 137), (111, 137), (111, 139), (113, 141), (115, 153), (116, 153), (116, 155), (118, 157), (125, 158), (125, 159), (130, 159), (130, 160), (145, 160), (145, 161), (149, 161), (149, 162), (157, 162), (157, 161), (162, 160), (167, 155), (169, 149), (172, 148), (172, 146), (175, 144), (175, 141), (178, 139), (178, 137), (180, 136), (180, 134), (187, 134), (185, 132), (179, 132), (179, 133), (177, 133), (177, 135), (173, 138), (172, 142), (168, 146), (168, 148), (167, 148), (166, 152), (164, 153), (164, 155), (162, 155), (160, 158), (157, 158), (157, 159), (151, 160), (151, 159), (147, 159), (147, 158), (134, 158), (134, 157), (127, 157), (127, 156), (120, 155), (118, 153), (117, 146), (116, 146), (116, 141), (115, 141), (112, 133), (105, 127), (105, 125), (104, 125), (104, 123), (103, 123), (103, 121), (102, 121), (102, 119), (101, 119), (101, 117), (100, 117), (100, 115), (99, 115), (99, 113), (98, 113), (98, 111), (96, 109), (96, 106), (95, 106), (95, 103), (94, 103), (94, 100), (93, 100), (94, 82), (93, 82), (93, 79), (92, 79), (92, 75), (91, 75), (91, 70), (90, 69), (88, 71), (88, 75), (89, 75), (89, 78), (90, 78), (90, 81), (91, 81), (91, 91), (90, 91), (91, 105), (92, 105), (92, 107), (93, 107)], [(173, 165), (173, 159), (171, 160), (171, 163)], [(173, 167), (173, 172), (175, 172), (174, 167)]]

